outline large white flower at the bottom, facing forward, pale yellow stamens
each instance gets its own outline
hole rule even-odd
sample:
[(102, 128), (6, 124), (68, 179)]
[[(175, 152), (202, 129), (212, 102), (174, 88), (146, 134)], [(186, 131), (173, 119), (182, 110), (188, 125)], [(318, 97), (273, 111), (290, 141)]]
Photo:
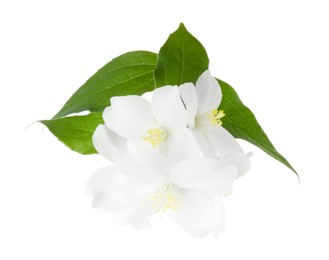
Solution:
[(155, 213), (168, 214), (194, 237), (217, 237), (224, 226), (223, 194), (231, 190), (236, 167), (217, 159), (172, 163), (127, 141), (115, 166), (97, 171), (87, 183), (96, 208), (122, 225), (148, 227)]

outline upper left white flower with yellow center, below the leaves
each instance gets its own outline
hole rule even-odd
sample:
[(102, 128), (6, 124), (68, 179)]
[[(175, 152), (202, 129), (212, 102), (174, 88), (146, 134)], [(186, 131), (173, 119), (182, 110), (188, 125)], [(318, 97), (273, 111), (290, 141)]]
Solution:
[(175, 86), (154, 90), (151, 102), (140, 96), (112, 97), (103, 119), (106, 126), (97, 128), (93, 142), (96, 150), (110, 160), (116, 147), (126, 140), (173, 160), (186, 159), (181, 157), (180, 147), (197, 146), (186, 128), (186, 110)]

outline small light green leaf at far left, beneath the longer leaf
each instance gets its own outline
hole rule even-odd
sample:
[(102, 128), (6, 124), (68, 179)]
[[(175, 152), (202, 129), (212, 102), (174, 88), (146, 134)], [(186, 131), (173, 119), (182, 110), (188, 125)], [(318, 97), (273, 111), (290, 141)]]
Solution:
[(61, 142), (81, 154), (97, 153), (92, 143), (92, 135), (99, 124), (103, 124), (101, 113), (85, 116), (71, 116), (40, 121), (48, 127)]

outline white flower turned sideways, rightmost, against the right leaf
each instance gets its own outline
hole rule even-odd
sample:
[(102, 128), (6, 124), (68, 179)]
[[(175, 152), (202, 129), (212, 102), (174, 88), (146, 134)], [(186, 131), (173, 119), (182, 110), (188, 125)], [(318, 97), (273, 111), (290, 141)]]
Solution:
[(187, 111), (188, 127), (192, 130), (205, 158), (220, 158), (238, 168), (238, 176), (250, 168), (249, 155), (245, 155), (235, 138), (221, 125), (224, 111), (218, 110), (222, 99), (221, 88), (210, 72), (205, 71), (196, 85), (179, 86)]

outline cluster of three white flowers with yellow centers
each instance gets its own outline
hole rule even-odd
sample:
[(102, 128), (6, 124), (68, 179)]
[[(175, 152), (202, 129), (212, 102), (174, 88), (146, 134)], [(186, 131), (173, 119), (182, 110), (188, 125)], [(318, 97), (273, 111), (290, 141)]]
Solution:
[(221, 99), (209, 71), (195, 86), (157, 88), (151, 102), (111, 98), (93, 143), (113, 165), (87, 183), (93, 206), (137, 229), (165, 213), (192, 236), (217, 237), (224, 227), (221, 199), (250, 168), (249, 156), (221, 126)]

